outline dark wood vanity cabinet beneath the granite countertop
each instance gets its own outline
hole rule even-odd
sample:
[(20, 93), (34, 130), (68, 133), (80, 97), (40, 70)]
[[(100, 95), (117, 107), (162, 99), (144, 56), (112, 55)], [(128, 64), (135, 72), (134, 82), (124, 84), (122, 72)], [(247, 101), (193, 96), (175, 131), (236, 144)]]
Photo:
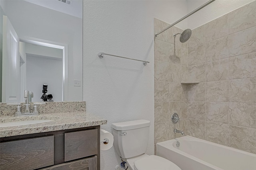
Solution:
[(100, 170), (100, 126), (0, 138), (1, 170)]

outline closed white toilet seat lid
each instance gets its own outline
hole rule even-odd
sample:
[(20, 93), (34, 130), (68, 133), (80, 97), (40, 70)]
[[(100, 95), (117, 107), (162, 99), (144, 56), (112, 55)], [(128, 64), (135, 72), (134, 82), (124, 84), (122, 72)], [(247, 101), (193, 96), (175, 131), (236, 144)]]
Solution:
[(156, 155), (134, 161), (135, 170), (181, 170), (173, 162)]

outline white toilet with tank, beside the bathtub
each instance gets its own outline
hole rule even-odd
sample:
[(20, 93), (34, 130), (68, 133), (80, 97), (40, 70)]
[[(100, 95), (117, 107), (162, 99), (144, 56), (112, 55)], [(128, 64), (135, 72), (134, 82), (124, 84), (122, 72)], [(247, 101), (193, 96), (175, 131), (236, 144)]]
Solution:
[(145, 154), (149, 126), (148, 120), (112, 123), (114, 146), (119, 156), (126, 159), (130, 170), (181, 170), (170, 160)]

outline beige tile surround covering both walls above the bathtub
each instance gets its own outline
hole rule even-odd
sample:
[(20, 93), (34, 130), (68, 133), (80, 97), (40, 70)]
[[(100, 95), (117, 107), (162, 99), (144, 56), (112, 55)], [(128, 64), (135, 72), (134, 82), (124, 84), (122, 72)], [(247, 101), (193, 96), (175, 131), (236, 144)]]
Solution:
[[(256, 153), (255, 18), (256, 1), (193, 29), (187, 72), (186, 64), (182, 73), (180, 67), (170, 70), (170, 52), (166, 53), (164, 40), (155, 39), (155, 143), (177, 137), (170, 123), (174, 104), (183, 118), (178, 128), (186, 135)], [(166, 23), (158, 20), (155, 24), (157, 29)], [(163, 63), (168, 59), (169, 70), (164, 73)], [(174, 74), (181, 81), (200, 83), (175, 85), (170, 78)], [(168, 85), (163, 75), (169, 76)], [(169, 91), (164, 90), (166, 86)], [(184, 102), (173, 102), (176, 96)]]

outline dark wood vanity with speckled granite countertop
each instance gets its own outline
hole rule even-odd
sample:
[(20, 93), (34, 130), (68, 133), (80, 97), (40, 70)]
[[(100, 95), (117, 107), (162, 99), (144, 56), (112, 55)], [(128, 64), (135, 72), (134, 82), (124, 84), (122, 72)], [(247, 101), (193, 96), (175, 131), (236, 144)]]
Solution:
[(106, 119), (86, 111), (0, 117), (2, 125), (22, 120), (47, 121), (0, 127), (0, 169), (100, 170), (100, 125)]

